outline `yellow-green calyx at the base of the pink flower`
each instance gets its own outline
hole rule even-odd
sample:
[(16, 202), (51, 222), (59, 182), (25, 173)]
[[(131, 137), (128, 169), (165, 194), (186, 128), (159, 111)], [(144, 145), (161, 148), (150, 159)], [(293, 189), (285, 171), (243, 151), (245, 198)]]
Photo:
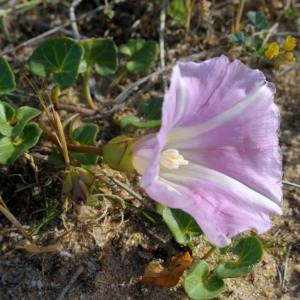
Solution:
[(117, 136), (103, 146), (103, 159), (113, 169), (132, 171), (132, 146), (135, 139), (125, 135)]

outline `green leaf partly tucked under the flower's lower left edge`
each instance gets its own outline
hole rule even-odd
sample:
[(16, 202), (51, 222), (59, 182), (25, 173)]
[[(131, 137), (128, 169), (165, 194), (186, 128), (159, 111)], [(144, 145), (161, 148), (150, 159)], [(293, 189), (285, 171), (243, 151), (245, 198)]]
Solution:
[(193, 237), (202, 234), (196, 221), (180, 209), (166, 207), (162, 217), (179, 244), (187, 244)]

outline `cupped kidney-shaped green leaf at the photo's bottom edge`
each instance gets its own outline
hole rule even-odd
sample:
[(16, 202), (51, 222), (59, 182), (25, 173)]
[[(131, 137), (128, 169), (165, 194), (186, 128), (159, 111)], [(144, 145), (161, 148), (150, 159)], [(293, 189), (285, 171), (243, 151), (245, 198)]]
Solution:
[(193, 300), (212, 299), (225, 291), (225, 285), (217, 276), (209, 276), (209, 267), (205, 261), (198, 261), (188, 271), (184, 290)]

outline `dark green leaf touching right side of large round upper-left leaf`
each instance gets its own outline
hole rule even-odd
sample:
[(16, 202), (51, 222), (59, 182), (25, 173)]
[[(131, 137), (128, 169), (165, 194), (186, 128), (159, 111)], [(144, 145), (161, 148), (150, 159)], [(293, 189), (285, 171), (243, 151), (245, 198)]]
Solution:
[(81, 41), (87, 66), (95, 65), (101, 76), (113, 74), (118, 66), (117, 46), (111, 39), (88, 39)]

